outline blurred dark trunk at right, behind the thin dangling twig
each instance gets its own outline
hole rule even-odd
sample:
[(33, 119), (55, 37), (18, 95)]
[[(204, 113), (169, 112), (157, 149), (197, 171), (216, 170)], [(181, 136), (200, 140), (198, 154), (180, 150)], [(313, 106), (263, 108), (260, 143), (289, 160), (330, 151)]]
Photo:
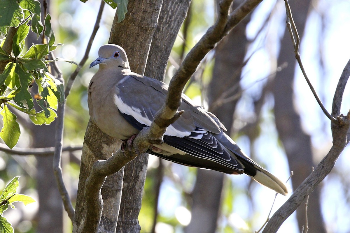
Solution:
[[(290, 2), (294, 21), (301, 38), (306, 24), (310, 2), (310, 0)], [(287, 154), (289, 168), (294, 171), (292, 184), (295, 190), (311, 173), (311, 168), (315, 167), (315, 164), (313, 162), (310, 135), (302, 130), (300, 115), (293, 103), (295, 57), (290, 35), (287, 30), (281, 41), (281, 50), (278, 56), (278, 64), (284, 62), (287, 62), (288, 66), (281, 72), (276, 73), (274, 79), (274, 114), (279, 138)], [(316, 188), (310, 195), (308, 203), (308, 232), (325, 232), (320, 208), (319, 188)], [(305, 225), (305, 207), (303, 205), (300, 206), (296, 213), (298, 226), (301, 229)]]

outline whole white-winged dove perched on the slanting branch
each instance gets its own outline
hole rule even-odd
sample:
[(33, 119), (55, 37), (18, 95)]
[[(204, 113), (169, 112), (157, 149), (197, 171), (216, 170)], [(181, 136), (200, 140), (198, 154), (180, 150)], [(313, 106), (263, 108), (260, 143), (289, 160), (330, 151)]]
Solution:
[[(106, 134), (122, 140), (150, 126), (165, 102), (168, 85), (131, 72), (123, 48), (103, 45), (90, 68), (99, 65), (88, 91), (90, 117)], [(286, 185), (255, 163), (224, 133), (225, 127), (212, 113), (196, 106), (182, 94), (182, 116), (171, 124), (164, 143), (148, 153), (182, 165), (228, 174), (245, 173), (276, 192), (286, 195)]]

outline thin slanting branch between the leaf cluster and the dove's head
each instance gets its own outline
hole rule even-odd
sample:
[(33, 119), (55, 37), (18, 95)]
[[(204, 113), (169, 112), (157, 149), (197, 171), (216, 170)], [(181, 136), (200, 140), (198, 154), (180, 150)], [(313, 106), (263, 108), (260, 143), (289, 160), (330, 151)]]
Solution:
[(77, 77), (79, 71), (82, 69), (81, 67), (84, 66), (84, 64), (86, 63), (87, 58), (89, 58), (89, 53), (90, 53), (90, 50), (91, 50), (92, 42), (93, 42), (93, 40), (94, 40), (94, 38), (96, 36), (96, 33), (97, 33), (97, 31), (98, 31), (98, 29), (100, 27), (100, 21), (101, 21), (101, 17), (102, 17), (102, 12), (103, 12), (104, 6), (105, 6), (105, 2), (101, 1), (101, 5), (100, 5), (100, 8), (99, 8), (98, 13), (97, 13), (95, 25), (93, 27), (93, 30), (92, 30), (89, 42), (87, 42), (85, 54), (84, 54), (82, 60), (79, 62), (79, 66), (75, 69), (75, 71), (70, 75), (70, 77), (68, 79), (66, 88), (64, 90), (65, 98), (67, 98), (67, 96), (69, 95), (69, 92), (70, 92), (70, 89), (73, 86), (74, 80)]

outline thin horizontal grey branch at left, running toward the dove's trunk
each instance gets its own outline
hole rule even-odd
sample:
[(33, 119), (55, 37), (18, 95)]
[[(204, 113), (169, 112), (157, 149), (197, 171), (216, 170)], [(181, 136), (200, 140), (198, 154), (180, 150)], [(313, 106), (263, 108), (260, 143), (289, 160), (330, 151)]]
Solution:
[[(79, 151), (82, 150), (82, 146), (65, 146), (62, 148), (62, 151)], [(6, 152), (7, 154), (13, 155), (42, 155), (48, 156), (52, 155), (55, 152), (55, 147), (46, 147), (46, 148), (18, 148), (14, 147), (12, 150), (8, 146), (0, 143), (0, 151)]]

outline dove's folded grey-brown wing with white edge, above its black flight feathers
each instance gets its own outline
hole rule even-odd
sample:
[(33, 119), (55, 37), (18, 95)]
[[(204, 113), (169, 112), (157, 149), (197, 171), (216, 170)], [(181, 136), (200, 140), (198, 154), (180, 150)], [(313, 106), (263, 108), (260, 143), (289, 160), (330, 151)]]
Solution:
[[(115, 88), (114, 102), (119, 111), (147, 126), (151, 125), (168, 92), (168, 85), (165, 83), (135, 73), (120, 80)], [(220, 133), (223, 127), (214, 115), (211, 116), (202, 107), (195, 106), (186, 95), (183, 95), (179, 109), (185, 112), (168, 127), (165, 135), (182, 138), (207, 131)]]

